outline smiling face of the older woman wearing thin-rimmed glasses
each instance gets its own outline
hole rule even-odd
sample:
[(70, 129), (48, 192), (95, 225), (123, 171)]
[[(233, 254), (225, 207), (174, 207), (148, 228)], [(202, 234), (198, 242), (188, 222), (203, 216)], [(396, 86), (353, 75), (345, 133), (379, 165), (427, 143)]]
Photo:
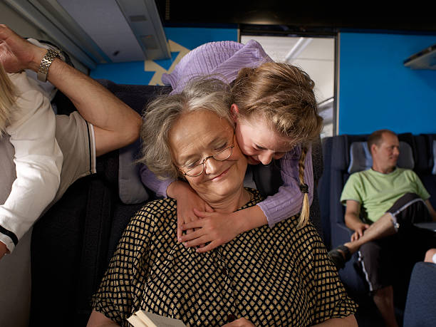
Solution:
[(173, 161), (182, 172), (200, 164), (205, 157), (234, 145), (227, 160), (210, 157), (204, 162), (201, 175), (185, 177), (192, 189), (209, 204), (242, 192), (246, 158), (239, 150), (232, 125), (227, 120), (208, 110), (182, 115), (171, 128), (169, 141)]

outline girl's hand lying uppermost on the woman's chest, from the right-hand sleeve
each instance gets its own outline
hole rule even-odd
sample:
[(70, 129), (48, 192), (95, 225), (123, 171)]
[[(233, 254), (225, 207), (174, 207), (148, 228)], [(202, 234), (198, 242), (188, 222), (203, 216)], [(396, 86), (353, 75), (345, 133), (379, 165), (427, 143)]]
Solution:
[(231, 241), (238, 234), (244, 232), (241, 229), (242, 219), (238, 217), (239, 212), (219, 214), (217, 212), (202, 212), (194, 209), (194, 214), (201, 219), (183, 224), (182, 230), (194, 229), (194, 232), (183, 235), (181, 242), (187, 247), (209, 243), (197, 249), (197, 252), (210, 251), (221, 244)]

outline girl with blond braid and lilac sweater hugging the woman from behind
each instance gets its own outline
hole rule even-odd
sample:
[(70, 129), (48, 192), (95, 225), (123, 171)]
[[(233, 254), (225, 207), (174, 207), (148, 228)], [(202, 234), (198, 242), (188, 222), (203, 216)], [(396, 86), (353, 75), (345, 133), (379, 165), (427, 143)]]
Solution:
[(283, 185), (256, 206), (224, 217), (211, 212), (185, 182), (157, 180), (142, 167), (142, 182), (147, 187), (177, 199), (178, 239), (185, 246), (209, 243), (197, 249), (209, 251), (242, 232), (264, 224), (273, 227), (299, 212), (299, 226), (303, 226), (308, 222), (313, 197), (311, 142), (322, 128), (313, 81), (295, 66), (274, 63), (252, 40), (245, 45), (223, 41), (199, 46), (162, 81), (177, 93), (191, 78), (207, 75), (232, 85), (229, 110), (239, 147), (249, 164), (269, 165), (278, 160)]

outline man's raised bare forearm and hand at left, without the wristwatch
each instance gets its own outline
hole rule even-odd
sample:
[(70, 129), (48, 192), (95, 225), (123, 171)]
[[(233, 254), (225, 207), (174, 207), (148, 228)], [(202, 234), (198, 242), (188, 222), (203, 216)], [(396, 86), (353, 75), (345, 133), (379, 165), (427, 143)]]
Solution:
[[(46, 49), (34, 46), (0, 24), (0, 61), (6, 71), (38, 71), (45, 54)], [(128, 145), (139, 137), (140, 115), (92, 78), (56, 58), (47, 79), (94, 125), (96, 155)]]

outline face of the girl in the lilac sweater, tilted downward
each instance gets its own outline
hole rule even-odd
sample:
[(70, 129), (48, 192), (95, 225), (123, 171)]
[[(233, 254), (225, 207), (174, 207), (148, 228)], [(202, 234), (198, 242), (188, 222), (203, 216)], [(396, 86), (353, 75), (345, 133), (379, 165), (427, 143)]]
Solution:
[(265, 118), (242, 118), (234, 110), (232, 105), (237, 141), (250, 165), (268, 165), (292, 150), (289, 138), (272, 130)]

